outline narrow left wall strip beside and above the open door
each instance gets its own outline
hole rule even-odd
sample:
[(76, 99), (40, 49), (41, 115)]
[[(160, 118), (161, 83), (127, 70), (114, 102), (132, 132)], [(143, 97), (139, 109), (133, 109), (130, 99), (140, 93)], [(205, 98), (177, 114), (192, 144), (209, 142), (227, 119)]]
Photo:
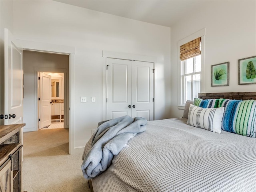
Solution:
[(13, 3), (0, 0), (0, 114), (4, 114), (4, 28), (13, 30)]

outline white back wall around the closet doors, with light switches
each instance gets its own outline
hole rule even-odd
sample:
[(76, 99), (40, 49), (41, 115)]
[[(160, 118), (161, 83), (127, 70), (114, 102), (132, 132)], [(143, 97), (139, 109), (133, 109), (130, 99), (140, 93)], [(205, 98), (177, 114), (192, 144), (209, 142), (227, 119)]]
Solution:
[[(14, 1), (14, 35), (75, 47), (74, 148), (82, 149), (103, 119), (102, 50), (155, 56), (155, 118), (170, 117), (170, 28), (60, 2)], [(81, 96), (96, 102), (80, 103)]]

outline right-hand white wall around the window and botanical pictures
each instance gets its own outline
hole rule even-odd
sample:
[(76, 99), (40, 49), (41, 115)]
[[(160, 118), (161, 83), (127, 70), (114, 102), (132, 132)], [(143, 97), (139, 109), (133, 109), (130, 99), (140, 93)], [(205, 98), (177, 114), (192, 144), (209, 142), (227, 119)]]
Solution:
[[(171, 117), (178, 109), (177, 42), (206, 28), (205, 68), (201, 92), (254, 92), (256, 85), (238, 85), (238, 59), (256, 56), (256, 1), (209, 1), (208, 8), (180, 20), (171, 28)], [(229, 86), (211, 87), (211, 65), (230, 62)]]

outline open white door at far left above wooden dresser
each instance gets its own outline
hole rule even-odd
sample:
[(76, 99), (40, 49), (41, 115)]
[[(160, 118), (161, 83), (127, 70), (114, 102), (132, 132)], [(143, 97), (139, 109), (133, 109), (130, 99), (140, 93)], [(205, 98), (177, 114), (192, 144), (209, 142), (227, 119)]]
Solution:
[(4, 124), (23, 123), (23, 50), (4, 29)]

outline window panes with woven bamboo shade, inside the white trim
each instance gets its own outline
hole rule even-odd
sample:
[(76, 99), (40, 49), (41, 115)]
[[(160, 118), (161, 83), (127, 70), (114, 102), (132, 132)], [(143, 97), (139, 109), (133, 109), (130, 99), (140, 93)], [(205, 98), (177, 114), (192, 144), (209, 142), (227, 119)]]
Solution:
[(180, 46), (181, 104), (194, 100), (201, 92), (201, 38)]

